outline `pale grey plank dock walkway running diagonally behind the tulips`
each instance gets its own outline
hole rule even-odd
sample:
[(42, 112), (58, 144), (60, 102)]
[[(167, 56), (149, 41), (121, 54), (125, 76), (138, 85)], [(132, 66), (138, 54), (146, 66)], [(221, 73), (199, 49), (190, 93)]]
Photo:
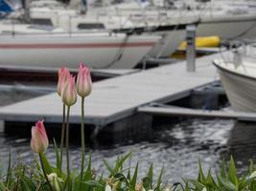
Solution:
[[(220, 53), (197, 59), (195, 73), (186, 72), (186, 61), (153, 68), (134, 74), (106, 79), (93, 84), (91, 96), (85, 99), (85, 121), (105, 126), (130, 117), (137, 108), (151, 102), (166, 103), (189, 96), (191, 91), (219, 80), (212, 60)], [(34, 122), (61, 122), (62, 103), (57, 94), (40, 96), (0, 108), (0, 119)], [(81, 101), (71, 108), (72, 123), (81, 121)]]

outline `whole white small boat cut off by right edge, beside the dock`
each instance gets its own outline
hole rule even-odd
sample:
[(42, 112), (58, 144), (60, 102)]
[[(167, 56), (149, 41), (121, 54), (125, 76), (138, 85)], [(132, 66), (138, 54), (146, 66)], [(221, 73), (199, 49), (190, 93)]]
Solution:
[(236, 111), (256, 112), (256, 59), (243, 56), (237, 61), (213, 61), (231, 107)]

